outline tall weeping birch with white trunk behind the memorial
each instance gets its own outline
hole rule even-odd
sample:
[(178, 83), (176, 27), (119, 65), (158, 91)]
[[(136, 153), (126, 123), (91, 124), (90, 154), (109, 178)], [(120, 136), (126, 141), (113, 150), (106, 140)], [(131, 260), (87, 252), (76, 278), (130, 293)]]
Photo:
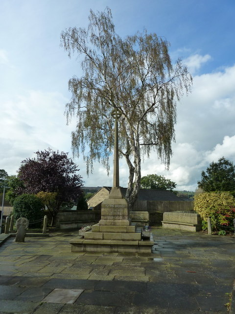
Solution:
[(84, 75), (69, 80), (72, 97), (66, 105), (67, 123), (76, 117), (71, 133), (73, 154), (83, 154), (87, 173), (101, 162), (109, 173), (114, 147), (113, 109), (121, 116), (119, 156), (129, 167), (126, 199), (130, 207), (141, 186), (141, 157), (151, 150), (168, 168), (175, 138), (176, 103), (190, 91), (192, 77), (177, 60), (172, 65), (169, 43), (155, 33), (137, 32), (121, 38), (111, 10), (89, 16), (88, 28), (70, 27), (61, 33), (69, 57), (81, 57)]

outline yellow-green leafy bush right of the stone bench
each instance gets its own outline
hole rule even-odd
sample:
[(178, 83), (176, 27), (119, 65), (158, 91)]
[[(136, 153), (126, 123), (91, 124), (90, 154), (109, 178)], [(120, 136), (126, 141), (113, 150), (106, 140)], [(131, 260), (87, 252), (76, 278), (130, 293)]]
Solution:
[(213, 231), (233, 231), (235, 218), (235, 199), (230, 192), (205, 192), (194, 196), (194, 210), (203, 219), (203, 227), (211, 218)]

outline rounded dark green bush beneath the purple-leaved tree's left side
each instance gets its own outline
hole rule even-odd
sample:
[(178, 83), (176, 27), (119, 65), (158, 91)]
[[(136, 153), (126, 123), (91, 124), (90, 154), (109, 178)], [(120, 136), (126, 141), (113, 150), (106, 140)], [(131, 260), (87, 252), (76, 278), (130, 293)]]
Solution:
[[(13, 203), (15, 219), (25, 217), (29, 225), (44, 217), (44, 205), (41, 200), (33, 194), (22, 194), (15, 198)], [(33, 223), (31, 228), (41, 227), (42, 222)]]

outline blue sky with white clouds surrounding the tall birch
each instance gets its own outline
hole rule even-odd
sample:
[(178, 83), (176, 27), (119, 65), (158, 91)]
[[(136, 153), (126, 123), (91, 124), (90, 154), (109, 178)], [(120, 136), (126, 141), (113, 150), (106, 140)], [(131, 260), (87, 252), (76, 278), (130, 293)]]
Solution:
[[(76, 56), (60, 47), (61, 31), (86, 27), (90, 9), (112, 10), (119, 35), (145, 27), (170, 42), (193, 75), (192, 92), (177, 106), (176, 143), (169, 171), (151, 154), (142, 175), (157, 173), (195, 190), (201, 171), (224, 156), (235, 162), (235, 1), (0, 0), (0, 169), (16, 174), (23, 159), (51, 147), (69, 152), (74, 121), (66, 125), (68, 80), (81, 75)], [(95, 164), (86, 186), (112, 185)], [(112, 161), (111, 161), (112, 163)], [(127, 171), (120, 161), (120, 184)]]

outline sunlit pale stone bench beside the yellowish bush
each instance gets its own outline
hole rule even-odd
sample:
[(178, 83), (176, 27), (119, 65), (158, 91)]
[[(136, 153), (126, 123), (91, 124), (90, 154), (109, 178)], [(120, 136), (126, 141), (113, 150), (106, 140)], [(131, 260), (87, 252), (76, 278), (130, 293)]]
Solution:
[(170, 229), (179, 229), (193, 232), (202, 230), (201, 217), (199, 214), (193, 212), (164, 212), (162, 224), (164, 228)]

